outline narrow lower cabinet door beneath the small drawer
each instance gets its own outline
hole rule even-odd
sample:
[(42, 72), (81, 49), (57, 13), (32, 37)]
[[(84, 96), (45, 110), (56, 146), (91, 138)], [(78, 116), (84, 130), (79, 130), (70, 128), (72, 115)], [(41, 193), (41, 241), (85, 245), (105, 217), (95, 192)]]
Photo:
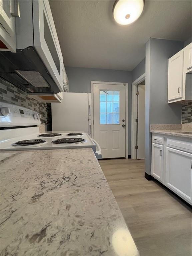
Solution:
[(161, 182), (163, 182), (163, 148), (162, 145), (152, 143), (151, 175)]

